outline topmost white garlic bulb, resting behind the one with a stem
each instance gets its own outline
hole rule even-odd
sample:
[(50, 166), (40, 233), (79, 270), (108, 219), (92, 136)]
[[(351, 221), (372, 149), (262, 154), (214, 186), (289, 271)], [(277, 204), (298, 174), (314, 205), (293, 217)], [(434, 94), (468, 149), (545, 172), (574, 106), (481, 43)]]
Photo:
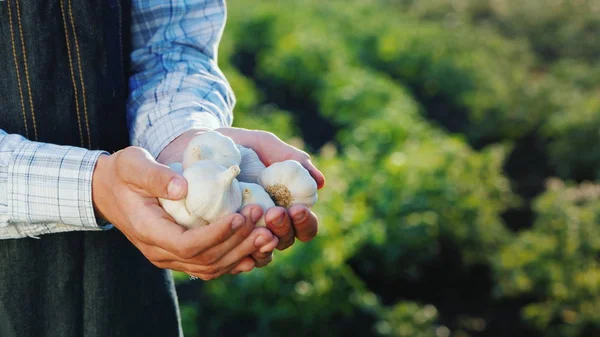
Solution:
[(216, 131), (207, 131), (194, 137), (183, 151), (183, 169), (198, 160), (212, 160), (227, 168), (240, 165), (242, 156), (231, 138)]

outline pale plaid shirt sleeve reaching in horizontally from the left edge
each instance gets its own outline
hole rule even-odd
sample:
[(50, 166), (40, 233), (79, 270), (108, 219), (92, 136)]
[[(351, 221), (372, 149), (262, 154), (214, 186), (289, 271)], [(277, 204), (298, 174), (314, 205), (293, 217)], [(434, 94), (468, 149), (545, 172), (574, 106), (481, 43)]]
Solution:
[(104, 229), (92, 202), (92, 174), (103, 153), (0, 130), (0, 239)]

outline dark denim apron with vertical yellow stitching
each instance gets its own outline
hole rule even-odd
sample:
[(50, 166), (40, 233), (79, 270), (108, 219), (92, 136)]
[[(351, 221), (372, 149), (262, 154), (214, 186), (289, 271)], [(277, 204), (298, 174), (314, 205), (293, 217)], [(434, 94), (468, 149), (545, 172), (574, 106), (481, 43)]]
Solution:
[[(126, 147), (130, 11), (126, 0), (0, 1), (0, 128)], [(0, 336), (181, 336), (173, 279), (116, 229), (0, 240)]]

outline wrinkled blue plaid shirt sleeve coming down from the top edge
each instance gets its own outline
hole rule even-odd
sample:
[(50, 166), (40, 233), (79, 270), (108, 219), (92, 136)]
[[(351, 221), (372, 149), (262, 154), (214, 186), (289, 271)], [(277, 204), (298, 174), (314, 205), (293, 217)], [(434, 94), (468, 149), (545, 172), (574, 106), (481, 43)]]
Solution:
[(235, 96), (217, 65), (225, 21), (224, 0), (133, 2), (133, 145), (157, 157), (188, 130), (231, 125)]

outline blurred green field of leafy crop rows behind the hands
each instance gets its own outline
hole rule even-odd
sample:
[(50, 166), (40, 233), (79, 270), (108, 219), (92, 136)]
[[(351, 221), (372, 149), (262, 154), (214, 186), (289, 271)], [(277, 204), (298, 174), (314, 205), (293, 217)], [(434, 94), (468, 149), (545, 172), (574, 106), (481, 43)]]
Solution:
[(319, 236), (175, 274), (187, 337), (600, 336), (600, 0), (233, 0), (235, 125), (310, 152)]

